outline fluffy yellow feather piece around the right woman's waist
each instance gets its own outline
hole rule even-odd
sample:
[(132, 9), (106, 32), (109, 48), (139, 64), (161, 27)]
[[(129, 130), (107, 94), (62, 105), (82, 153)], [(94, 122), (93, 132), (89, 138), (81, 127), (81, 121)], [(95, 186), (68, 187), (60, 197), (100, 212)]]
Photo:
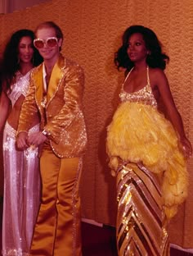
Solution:
[(121, 103), (107, 127), (106, 150), (110, 167), (119, 160), (141, 162), (150, 171), (163, 175), (164, 211), (168, 218), (187, 196), (186, 159), (178, 146), (172, 124), (155, 107), (141, 103)]

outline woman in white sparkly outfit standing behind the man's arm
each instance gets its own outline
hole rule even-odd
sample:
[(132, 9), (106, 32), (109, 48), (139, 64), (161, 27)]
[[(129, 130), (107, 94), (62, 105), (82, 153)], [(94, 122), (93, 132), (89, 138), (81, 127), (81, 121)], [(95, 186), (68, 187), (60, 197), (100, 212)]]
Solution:
[[(38, 149), (16, 149), (20, 107), (29, 87), (29, 75), (42, 58), (33, 46), (34, 33), (11, 35), (2, 57), (0, 130), (3, 130), (4, 194), (2, 255), (28, 255), (39, 199)], [(29, 112), (30, 115), (30, 112)], [(30, 132), (38, 130), (38, 115)]]

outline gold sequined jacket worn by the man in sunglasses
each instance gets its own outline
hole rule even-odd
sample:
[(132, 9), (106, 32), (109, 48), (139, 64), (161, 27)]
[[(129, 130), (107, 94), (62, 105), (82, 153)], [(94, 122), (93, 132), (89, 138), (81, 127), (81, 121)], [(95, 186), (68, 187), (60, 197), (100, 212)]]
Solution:
[(47, 130), (52, 150), (59, 158), (79, 157), (85, 151), (87, 133), (83, 117), (83, 69), (59, 56), (52, 70), (43, 107), (43, 64), (30, 76), (29, 92), (20, 112), (18, 133), (28, 131), (39, 112), (40, 128)]

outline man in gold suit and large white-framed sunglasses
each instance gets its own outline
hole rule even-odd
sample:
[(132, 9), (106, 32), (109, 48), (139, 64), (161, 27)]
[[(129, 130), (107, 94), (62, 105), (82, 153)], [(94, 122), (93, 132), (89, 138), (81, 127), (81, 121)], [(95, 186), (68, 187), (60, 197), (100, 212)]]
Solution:
[[(82, 68), (60, 53), (63, 34), (52, 21), (38, 25), (34, 46), (43, 64), (34, 69), (22, 106), (17, 146), (39, 146), (42, 203), (31, 255), (82, 255), (79, 179), (87, 143)], [(35, 113), (41, 131), (28, 135)]]

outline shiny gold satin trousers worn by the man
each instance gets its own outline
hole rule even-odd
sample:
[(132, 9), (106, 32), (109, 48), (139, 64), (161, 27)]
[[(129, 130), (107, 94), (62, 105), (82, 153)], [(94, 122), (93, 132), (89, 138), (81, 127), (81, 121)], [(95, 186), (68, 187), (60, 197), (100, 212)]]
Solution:
[(58, 158), (43, 149), (43, 194), (31, 255), (79, 256), (81, 251), (79, 179), (82, 158)]

